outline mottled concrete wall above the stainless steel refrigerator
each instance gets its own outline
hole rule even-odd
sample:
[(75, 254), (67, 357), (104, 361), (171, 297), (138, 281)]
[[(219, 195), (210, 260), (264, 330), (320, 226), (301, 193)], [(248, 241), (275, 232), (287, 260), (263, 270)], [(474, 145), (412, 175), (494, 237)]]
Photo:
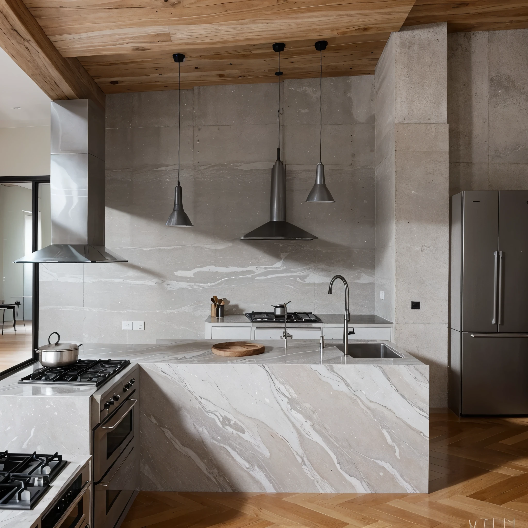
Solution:
[(528, 188), (528, 30), (448, 35), (449, 193)]

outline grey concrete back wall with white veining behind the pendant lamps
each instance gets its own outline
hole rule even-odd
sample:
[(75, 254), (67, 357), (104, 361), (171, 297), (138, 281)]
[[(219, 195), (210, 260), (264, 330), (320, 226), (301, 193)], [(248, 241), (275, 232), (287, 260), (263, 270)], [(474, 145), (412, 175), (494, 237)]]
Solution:
[[(226, 313), (374, 313), (374, 79), (323, 80), (323, 163), (335, 204), (305, 203), (319, 161), (319, 80), (281, 83), (287, 220), (312, 242), (241, 241), (269, 220), (276, 83), (182, 91), (181, 182), (193, 228), (169, 228), (177, 169), (177, 91), (107, 98), (106, 245), (111, 265), (41, 266), (41, 340), (154, 343), (204, 333), (212, 295)], [(122, 331), (122, 320), (145, 331)], [(127, 335), (128, 334), (128, 335)]]

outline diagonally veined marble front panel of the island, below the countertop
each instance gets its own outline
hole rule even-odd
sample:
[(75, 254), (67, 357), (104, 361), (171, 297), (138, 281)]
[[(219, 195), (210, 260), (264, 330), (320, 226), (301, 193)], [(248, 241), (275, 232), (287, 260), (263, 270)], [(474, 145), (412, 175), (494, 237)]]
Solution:
[(428, 491), (427, 365), (141, 368), (142, 489)]

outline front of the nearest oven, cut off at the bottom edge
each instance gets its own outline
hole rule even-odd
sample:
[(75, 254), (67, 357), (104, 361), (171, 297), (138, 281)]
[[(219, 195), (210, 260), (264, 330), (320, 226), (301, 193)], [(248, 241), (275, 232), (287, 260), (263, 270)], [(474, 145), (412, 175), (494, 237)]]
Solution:
[(73, 482), (42, 515), (41, 528), (86, 528), (90, 525), (90, 470), (86, 463)]

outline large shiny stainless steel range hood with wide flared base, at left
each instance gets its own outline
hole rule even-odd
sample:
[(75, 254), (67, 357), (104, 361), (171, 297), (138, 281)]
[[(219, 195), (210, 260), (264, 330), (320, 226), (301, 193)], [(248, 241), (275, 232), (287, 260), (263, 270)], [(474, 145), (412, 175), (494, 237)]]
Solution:
[(51, 246), (15, 262), (128, 262), (105, 248), (105, 111), (51, 103)]

